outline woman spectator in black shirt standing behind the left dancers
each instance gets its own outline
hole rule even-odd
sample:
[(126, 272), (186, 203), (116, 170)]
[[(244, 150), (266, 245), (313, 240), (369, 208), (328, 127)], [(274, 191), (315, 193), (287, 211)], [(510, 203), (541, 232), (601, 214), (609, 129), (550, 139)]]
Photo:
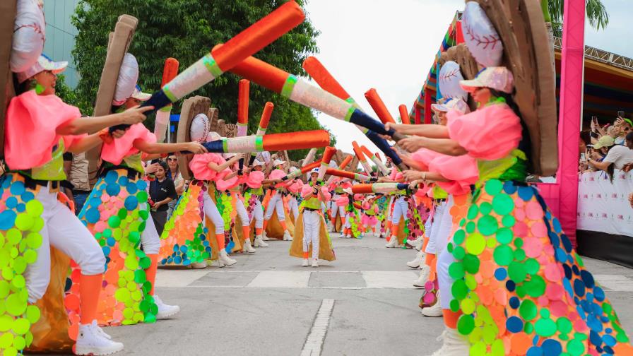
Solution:
[(155, 169), (156, 179), (150, 182), (150, 205), (156, 231), (161, 235), (167, 223), (167, 204), (177, 198), (177, 195), (174, 182), (167, 177), (167, 163), (159, 161)]

